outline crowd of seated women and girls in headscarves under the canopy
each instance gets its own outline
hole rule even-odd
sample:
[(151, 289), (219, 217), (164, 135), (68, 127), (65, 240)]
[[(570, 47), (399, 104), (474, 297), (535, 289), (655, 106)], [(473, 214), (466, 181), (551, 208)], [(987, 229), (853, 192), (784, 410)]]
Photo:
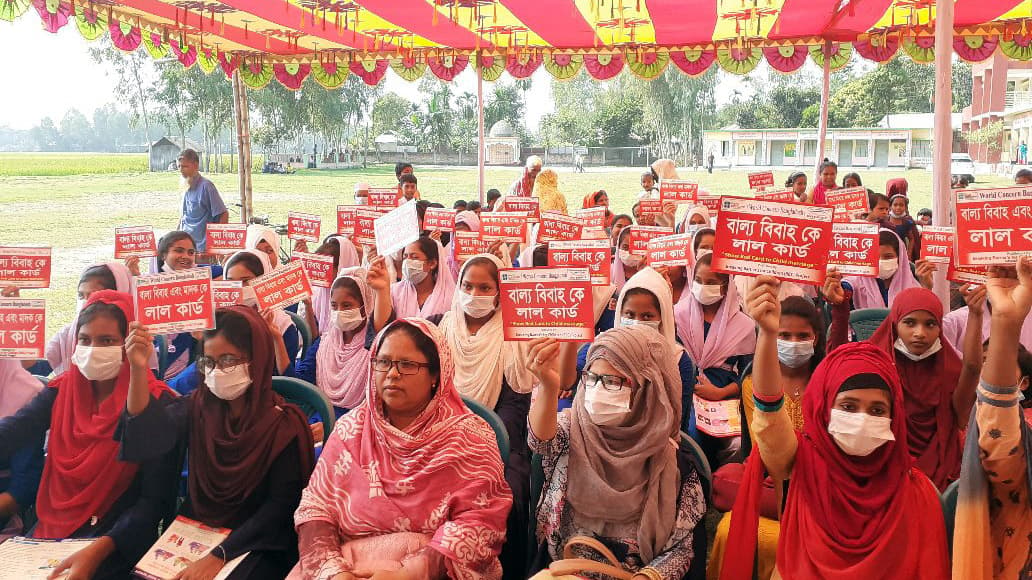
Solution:
[[(397, 173), (420, 216), (440, 206), (411, 166)], [(638, 199), (677, 176), (656, 161)], [(833, 163), (814, 187), (804, 173), (785, 187), (820, 203), (840, 184), (863, 187)], [(568, 211), (538, 158), (513, 195)], [(249, 291), (281, 265), (277, 234), (250, 226), (247, 250), (200, 264), (191, 221), (150, 271), (211, 267), (244, 284), (244, 303), (213, 330), (167, 336), (158, 377), (128, 293), (141, 264), (86, 269), (47, 349), (50, 383), (0, 361), (0, 524), (96, 538), (55, 572), (76, 580), (127, 577), (176, 514), (231, 529), (187, 580), (244, 555), (229, 578), (1030, 578), (1032, 259), (956, 288), (963, 308), (945, 313), (934, 265), (915, 260), (929, 222), (910, 217), (906, 182), (869, 199), (878, 276), (833, 270), (819, 289), (713, 270), (705, 207), (608, 212), (611, 285), (593, 288), (585, 345), (504, 340), (499, 270), (547, 265), (534, 230), (464, 262), (440, 231), (393, 256), (332, 235), (315, 252), (336, 280), (293, 309), (317, 336), (303, 357), (296, 318), (258, 312)], [(456, 230), (479, 231), (504, 200), (465, 203)], [(647, 265), (630, 252), (633, 224), (692, 231), (689, 264)], [(868, 308), (889, 315), (852, 342), (849, 313)], [(324, 447), (275, 376), (332, 402)], [(700, 429), (696, 397), (740, 401), (741, 434)], [(496, 415), (508, 450), (470, 407)], [(946, 521), (940, 493), (957, 481)]]

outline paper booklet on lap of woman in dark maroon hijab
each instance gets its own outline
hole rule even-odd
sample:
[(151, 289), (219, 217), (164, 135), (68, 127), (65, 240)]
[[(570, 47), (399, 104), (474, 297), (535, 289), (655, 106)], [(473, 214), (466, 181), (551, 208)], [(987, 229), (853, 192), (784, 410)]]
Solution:
[[(230, 531), (232, 530), (225, 527), (208, 527), (199, 521), (179, 516), (136, 563), (135, 576), (148, 580), (171, 580), (183, 569), (206, 556)], [(247, 556), (248, 554), (244, 554), (227, 561), (215, 580), (228, 578)]]

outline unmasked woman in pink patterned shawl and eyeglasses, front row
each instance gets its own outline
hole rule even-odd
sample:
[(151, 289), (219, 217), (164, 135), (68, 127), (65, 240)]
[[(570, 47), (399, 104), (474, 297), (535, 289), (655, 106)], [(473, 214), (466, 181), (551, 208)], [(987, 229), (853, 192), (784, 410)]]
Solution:
[(444, 336), (407, 319), (376, 343), (366, 399), (333, 427), (294, 515), (302, 577), (501, 578), (512, 495)]

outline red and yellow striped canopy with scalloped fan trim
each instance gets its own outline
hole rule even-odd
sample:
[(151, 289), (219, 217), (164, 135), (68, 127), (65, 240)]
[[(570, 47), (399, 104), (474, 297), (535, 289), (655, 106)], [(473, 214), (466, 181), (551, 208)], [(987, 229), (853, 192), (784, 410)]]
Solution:
[[(556, 78), (585, 69), (610, 78), (624, 66), (652, 78), (673, 63), (702, 74), (716, 63), (746, 73), (762, 59), (798, 70), (807, 58), (843, 66), (853, 51), (884, 62), (900, 50), (933, 59), (935, 0), (0, 0), (0, 20), (34, 13), (57, 32), (143, 46), (205, 72), (239, 68), (252, 88), (273, 77), (297, 89), (310, 74), (327, 88), (349, 74), (370, 85), (388, 68), (445, 80), (467, 66)], [(1032, 59), (1032, 2), (957, 0), (957, 54), (1000, 50)], [(825, 54), (825, 40), (834, 43)]]

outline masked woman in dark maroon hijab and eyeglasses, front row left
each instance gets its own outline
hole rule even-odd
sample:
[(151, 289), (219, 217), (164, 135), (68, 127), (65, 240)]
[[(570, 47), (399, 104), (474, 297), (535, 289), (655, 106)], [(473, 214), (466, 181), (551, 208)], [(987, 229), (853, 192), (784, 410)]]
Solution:
[[(244, 554), (229, 578), (283, 578), (297, 561), (291, 516), (315, 444), (304, 414), (272, 391), (273, 337), (261, 316), (238, 305), (217, 311), (215, 322), (202, 339), (204, 380), (193, 393), (155, 398), (130, 385), (122, 456), (139, 461), (186, 444), (188, 500), (180, 513), (232, 530), (181, 580), (213, 578)], [(150, 341), (132, 325), (127, 344)]]

